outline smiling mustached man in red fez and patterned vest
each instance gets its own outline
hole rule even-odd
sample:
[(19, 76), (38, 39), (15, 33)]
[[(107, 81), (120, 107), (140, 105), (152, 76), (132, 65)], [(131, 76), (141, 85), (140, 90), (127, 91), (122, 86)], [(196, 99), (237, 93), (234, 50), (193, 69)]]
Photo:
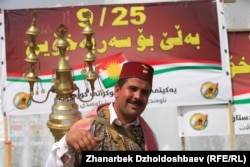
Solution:
[(82, 151), (158, 150), (154, 133), (140, 116), (152, 89), (154, 69), (140, 62), (123, 65), (115, 101), (92, 109), (53, 145), (47, 167), (74, 166)]

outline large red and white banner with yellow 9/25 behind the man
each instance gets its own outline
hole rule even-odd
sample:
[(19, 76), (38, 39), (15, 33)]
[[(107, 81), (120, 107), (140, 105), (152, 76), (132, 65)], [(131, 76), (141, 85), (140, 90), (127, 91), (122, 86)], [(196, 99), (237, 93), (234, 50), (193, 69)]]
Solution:
[(59, 58), (55, 50), (55, 30), (61, 23), (69, 28), (67, 56), (74, 69), (75, 83), (80, 85), (81, 96), (90, 99), (81, 75), (86, 66), (83, 57), (87, 54), (82, 34), (83, 13), (89, 11), (96, 32), (95, 70), (99, 79), (95, 82), (94, 100), (79, 103), (80, 110), (114, 100), (114, 84), (126, 61), (142, 61), (155, 68), (149, 107), (228, 103), (232, 98), (231, 80), (225, 65), (228, 55), (221, 49), (227, 38), (223, 37), (225, 29), (218, 3), (221, 2), (205, 0), (6, 10), (4, 108), (8, 114), (49, 113), (54, 101), (52, 94), (46, 105), (27, 101), (29, 85), (23, 72), (27, 68), (24, 59), (29, 53), (29, 37), (25, 32), (31, 25), (34, 10), (38, 13), (40, 29), (36, 52), (40, 59), (41, 81), (35, 86), (38, 95), (34, 96), (38, 101), (46, 97), (40, 93), (42, 88), (47, 92), (52, 86), (52, 71)]

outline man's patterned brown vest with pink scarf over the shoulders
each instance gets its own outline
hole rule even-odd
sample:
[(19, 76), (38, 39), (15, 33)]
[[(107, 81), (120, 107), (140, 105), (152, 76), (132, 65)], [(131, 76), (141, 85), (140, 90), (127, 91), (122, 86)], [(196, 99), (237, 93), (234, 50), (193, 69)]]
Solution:
[[(157, 151), (158, 145), (149, 125), (139, 116), (139, 126), (130, 126), (127, 130), (134, 135), (135, 140), (119, 134), (116, 130), (94, 121), (92, 116), (102, 117), (110, 122), (109, 104), (103, 104), (93, 108), (86, 118), (79, 120), (72, 127), (73, 129), (91, 130), (95, 126), (94, 136), (103, 139), (97, 146), (99, 151)], [(118, 126), (118, 125), (115, 125)]]

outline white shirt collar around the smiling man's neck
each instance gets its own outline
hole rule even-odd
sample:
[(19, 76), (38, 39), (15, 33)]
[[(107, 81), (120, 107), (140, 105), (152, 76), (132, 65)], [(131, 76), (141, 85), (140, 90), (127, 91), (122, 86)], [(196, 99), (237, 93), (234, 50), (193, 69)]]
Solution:
[(110, 124), (115, 123), (116, 125), (123, 126), (124, 128), (128, 128), (131, 125), (138, 126), (140, 124), (139, 118), (137, 117), (134, 122), (131, 122), (126, 125), (122, 125), (121, 121), (118, 119), (115, 109), (113, 107), (113, 103), (109, 104), (109, 111), (110, 111)]

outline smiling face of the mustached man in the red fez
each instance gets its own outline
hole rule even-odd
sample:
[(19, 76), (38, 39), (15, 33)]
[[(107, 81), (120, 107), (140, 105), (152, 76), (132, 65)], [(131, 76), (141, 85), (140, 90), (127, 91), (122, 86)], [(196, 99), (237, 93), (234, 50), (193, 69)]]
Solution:
[(150, 84), (139, 78), (129, 78), (122, 87), (116, 85), (114, 108), (120, 121), (134, 121), (146, 108), (150, 92)]

